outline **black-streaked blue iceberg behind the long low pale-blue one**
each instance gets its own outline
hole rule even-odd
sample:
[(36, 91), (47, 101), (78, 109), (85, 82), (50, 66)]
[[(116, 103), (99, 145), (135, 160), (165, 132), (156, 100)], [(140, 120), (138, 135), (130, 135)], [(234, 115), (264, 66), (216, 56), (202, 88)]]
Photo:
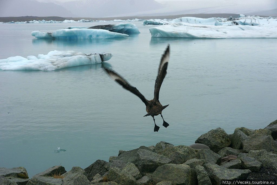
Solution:
[(138, 27), (133, 23), (118, 23), (118, 24), (108, 24), (108, 25), (98, 25), (89, 27), (89, 29), (104, 29), (112, 32), (123, 33), (123, 34), (134, 34), (140, 33)]

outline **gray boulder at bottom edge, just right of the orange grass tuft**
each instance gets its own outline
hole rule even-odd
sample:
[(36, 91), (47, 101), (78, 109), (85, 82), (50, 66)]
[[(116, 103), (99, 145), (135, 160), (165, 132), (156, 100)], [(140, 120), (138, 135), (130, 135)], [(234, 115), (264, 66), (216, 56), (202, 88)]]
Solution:
[(63, 185), (90, 185), (86, 172), (80, 167), (72, 167), (61, 177), (63, 177)]

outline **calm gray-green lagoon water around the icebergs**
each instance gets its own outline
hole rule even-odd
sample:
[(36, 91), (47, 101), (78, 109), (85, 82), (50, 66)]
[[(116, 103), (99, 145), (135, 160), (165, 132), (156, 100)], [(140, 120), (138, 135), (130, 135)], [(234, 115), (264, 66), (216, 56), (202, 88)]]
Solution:
[[(115, 22), (117, 23), (117, 22)], [(101, 64), (54, 71), (0, 71), (0, 167), (25, 167), (29, 176), (54, 165), (88, 167), (118, 150), (166, 141), (191, 145), (211, 129), (264, 128), (277, 119), (277, 39), (151, 38), (41, 40), (52, 32), (99, 23), (0, 24), (0, 59), (49, 51), (112, 53), (107, 61), (143, 95), (153, 98), (161, 54), (171, 56), (160, 90), (169, 106), (157, 116), (159, 132), (141, 100), (103, 71)], [(57, 147), (60, 151), (55, 152)]]

